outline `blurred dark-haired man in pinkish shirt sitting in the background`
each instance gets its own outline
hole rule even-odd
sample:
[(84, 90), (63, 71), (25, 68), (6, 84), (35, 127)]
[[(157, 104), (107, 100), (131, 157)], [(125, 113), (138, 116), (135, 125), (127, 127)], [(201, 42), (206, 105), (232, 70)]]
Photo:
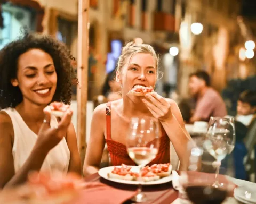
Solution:
[(195, 111), (190, 123), (210, 120), (210, 117), (225, 117), (226, 105), (220, 94), (210, 87), (210, 76), (205, 71), (197, 71), (189, 75), (189, 91), (196, 99)]

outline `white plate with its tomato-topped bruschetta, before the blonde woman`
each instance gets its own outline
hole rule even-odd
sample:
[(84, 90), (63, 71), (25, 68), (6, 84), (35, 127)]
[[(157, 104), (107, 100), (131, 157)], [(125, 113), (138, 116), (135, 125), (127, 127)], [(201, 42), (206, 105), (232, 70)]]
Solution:
[(172, 165), (153, 164), (139, 170), (138, 166), (108, 166), (99, 170), (99, 175), (109, 181), (132, 185), (156, 185), (172, 181)]

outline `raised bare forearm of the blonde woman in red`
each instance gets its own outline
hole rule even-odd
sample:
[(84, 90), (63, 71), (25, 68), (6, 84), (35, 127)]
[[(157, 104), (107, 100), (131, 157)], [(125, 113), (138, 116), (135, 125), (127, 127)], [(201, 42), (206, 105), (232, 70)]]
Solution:
[(177, 152), (181, 163), (180, 168), (182, 168), (186, 159), (184, 155), (187, 151), (187, 143), (191, 140), (191, 137), (186, 131), (185, 126), (182, 127), (174, 115), (170, 118), (170, 120), (161, 123), (165, 132), (170, 138), (175, 151)]

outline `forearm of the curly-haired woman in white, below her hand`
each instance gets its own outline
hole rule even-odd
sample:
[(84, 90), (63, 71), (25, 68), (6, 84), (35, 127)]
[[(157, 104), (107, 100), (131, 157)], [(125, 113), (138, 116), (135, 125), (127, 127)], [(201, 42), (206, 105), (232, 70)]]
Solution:
[(12, 179), (5, 185), (5, 188), (10, 188), (12, 186), (24, 183), (27, 181), (28, 173), (30, 171), (39, 171), (43, 165), (44, 159), (48, 151), (41, 151), (39, 148), (34, 148), (31, 151), (26, 162), (19, 169), (17, 173), (12, 177)]

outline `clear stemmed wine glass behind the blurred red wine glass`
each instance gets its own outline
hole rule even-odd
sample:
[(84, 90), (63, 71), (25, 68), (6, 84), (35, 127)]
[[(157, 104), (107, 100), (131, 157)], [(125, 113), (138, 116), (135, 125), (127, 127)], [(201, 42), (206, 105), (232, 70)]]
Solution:
[(218, 174), (221, 160), (230, 154), (235, 146), (235, 120), (234, 117), (211, 117), (206, 134), (205, 147), (216, 159), (215, 188), (220, 187)]

